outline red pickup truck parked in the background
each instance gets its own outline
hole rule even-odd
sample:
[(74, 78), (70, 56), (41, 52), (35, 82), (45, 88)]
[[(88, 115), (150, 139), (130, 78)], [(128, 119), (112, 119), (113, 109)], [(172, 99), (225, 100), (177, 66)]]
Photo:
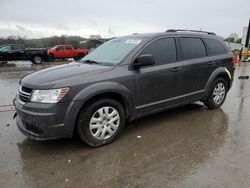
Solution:
[(74, 49), (72, 45), (56, 45), (48, 50), (50, 59), (74, 58), (79, 60), (88, 54), (88, 50)]

